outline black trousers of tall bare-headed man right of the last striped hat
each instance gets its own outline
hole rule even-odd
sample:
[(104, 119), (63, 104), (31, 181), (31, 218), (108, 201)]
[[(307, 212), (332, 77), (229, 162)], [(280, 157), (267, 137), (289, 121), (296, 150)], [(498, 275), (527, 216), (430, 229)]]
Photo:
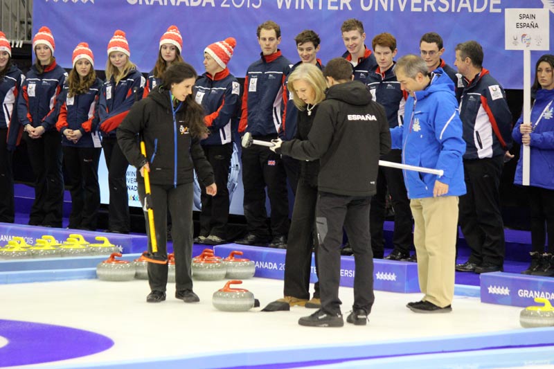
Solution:
[[(269, 141), (272, 136), (256, 137)], [(244, 186), (244, 217), (248, 231), (258, 237), (287, 235), (289, 231), (289, 201), (287, 177), (280, 155), (269, 147), (251, 145), (242, 149), (242, 185)], [(267, 226), (265, 188), (271, 205), (271, 233)]]

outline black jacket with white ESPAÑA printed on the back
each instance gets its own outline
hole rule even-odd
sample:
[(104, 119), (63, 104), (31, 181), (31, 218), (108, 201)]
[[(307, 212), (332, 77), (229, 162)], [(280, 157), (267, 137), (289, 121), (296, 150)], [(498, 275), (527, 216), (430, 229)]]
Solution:
[(281, 145), (283, 154), (296, 159), (320, 159), (318, 190), (345, 196), (375, 194), (379, 156), (390, 149), (384, 108), (359, 81), (330, 87), (307, 141)]

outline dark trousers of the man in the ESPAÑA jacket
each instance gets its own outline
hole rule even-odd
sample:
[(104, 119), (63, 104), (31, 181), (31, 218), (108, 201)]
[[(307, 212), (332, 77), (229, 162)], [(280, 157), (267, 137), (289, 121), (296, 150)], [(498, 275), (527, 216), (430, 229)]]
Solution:
[(354, 305), (368, 314), (375, 300), (373, 294), (373, 253), (369, 235), (370, 197), (352, 197), (319, 192), (316, 210), (319, 237), (319, 289), (321, 309), (328, 314), (341, 313), (341, 243), (344, 226), (354, 251)]

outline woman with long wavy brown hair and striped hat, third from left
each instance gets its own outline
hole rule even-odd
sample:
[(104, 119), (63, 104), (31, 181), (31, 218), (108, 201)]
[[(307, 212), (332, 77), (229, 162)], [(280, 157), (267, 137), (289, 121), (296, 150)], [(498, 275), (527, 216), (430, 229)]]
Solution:
[(86, 42), (77, 45), (73, 69), (60, 93), (56, 129), (62, 134), (62, 150), (71, 192), (69, 228), (96, 230), (100, 208), (98, 161), (102, 145), (98, 116), (94, 115), (102, 81), (94, 72), (94, 56)]

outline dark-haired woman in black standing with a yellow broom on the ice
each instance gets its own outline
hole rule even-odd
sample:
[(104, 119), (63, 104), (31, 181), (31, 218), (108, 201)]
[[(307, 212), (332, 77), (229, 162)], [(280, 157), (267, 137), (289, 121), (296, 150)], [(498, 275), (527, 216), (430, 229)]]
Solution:
[[(163, 84), (129, 111), (118, 128), (117, 138), (125, 157), (139, 170), (137, 185), (141, 204), (145, 201), (144, 171), (150, 173), (150, 200), (154, 210), (157, 260), (167, 260), (167, 211), (172, 219), (175, 253), (175, 298), (196, 303), (191, 261), (193, 257), (193, 180), (196, 170), (206, 193), (214, 196), (217, 186), (210, 163), (200, 145), (208, 129), (204, 109), (192, 96), (197, 73), (184, 62), (172, 63), (163, 74)], [(144, 141), (141, 154), (137, 135)], [(147, 217), (145, 213), (145, 217)], [(148, 233), (150, 230), (148, 229)], [(149, 244), (150, 254), (152, 245)], [(148, 264), (150, 294), (148, 303), (166, 300), (168, 264)]]

